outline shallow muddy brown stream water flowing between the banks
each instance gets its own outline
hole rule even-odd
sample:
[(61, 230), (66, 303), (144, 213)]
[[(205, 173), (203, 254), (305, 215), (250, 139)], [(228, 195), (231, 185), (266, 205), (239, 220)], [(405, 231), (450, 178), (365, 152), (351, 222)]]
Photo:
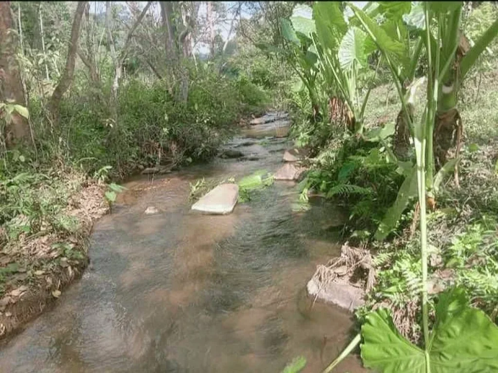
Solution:
[[(294, 212), (296, 187), (281, 182), (230, 215), (189, 209), (189, 182), (281, 165), (287, 140), (251, 131), (230, 146), (252, 160), (128, 183), (95, 226), (91, 267), (0, 351), (0, 371), (280, 372), (304, 355), (304, 372), (320, 372), (333, 360), (352, 317), (319, 303), (310, 311), (304, 286), (337, 253), (326, 228), (341, 213), (323, 201)], [(148, 206), (160, 212), (144, 215)], [(349, 357), (337, 372), (365, 371)]]

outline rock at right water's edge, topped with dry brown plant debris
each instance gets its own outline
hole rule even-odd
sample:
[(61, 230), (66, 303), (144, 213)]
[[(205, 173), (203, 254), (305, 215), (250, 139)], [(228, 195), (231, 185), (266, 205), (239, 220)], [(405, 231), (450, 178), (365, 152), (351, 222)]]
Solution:
[(365, 295), (363, 289), (349, 283), (331, 281), (325, 286), (321, 286), (316, 277), (313, 277), (308, 281), (306, 287), (311, 296), (316, 296), (318, 299), (337, 304), (350, 311), (355, 310), (365, 303), (363, 300)]

